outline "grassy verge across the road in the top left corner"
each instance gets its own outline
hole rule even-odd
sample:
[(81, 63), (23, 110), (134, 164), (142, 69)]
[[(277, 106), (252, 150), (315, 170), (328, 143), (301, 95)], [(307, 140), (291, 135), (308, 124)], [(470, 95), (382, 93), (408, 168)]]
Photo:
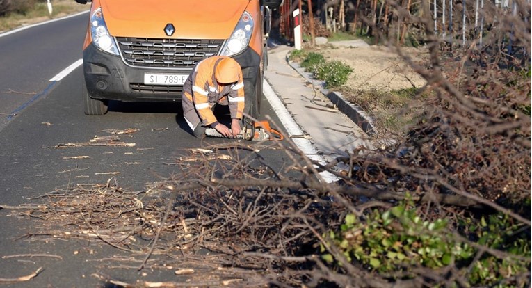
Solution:
[(49, 15), (45, 0), (0, 0), (0, 32), (89, 8), (74, 0), (53, 0), (51, 3), (53, 9)]

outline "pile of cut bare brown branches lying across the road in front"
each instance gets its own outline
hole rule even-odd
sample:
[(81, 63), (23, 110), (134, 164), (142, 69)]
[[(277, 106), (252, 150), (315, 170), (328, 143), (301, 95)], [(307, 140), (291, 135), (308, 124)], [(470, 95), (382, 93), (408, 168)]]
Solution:
[[(27, 237), (47, 241), (79, 237), (106, 243), (134, 255), (121, 260), (129, 262), (129, 268), (134, 264), (138, 269), (156, 269), (175, 266), (177, 259), (182, 259), (181, 265), (186, 259), (195, 259), (193, 268), (202, 266), (207, 272), (191, 275), (189, 285), (222, 286), (229, 280), (238, 280), (243, 286), (432, 285), (449, 271), (418, 269), (400, 278), (372, 273), (366, 264), (346, 259), (343, 244), (332, 241), (330, 232), (342, 230), (348, 215), (364, 223), (371, 209), (385, 211), (407, 199), (426, 210), (427, 218), (463, 214), (469, 208), (486, 213), (502, 209), (529, 223), (510, 209), (463, 191), (462, 182), (451, 184), (439, 175), (442, 170), (434, 169), (442, 159), (441, 155), (435, 158), (439, 150), (423, 148), (428, 142), (423, 143), (421, 135), (440, 139), (436, 144), (442, 149), (456, 145), (455, 138), (440, 131), (414, 133), (417, 137), (395, 147), (403, 149), (393, 149), (395, 156), (389, 154), (391, 147), (374, 152), (361, 149), (326, 166), (307, 159), (294, 150), (295, 145), (276, 143), (293, 160), (277, 170), (262, 164), (261, 157), (249, 151), (255, 150), (253, 147), (245, 151), (242, 147), (196, 150), (173, 163), (180, 168), (179, 176), (150, 184), (145, 191), (124, 191), (113, 177), (106, 184), (47, 193), (40, 205), (2, 208), (43, 220), (42, 231)], [(352, 168), (332, 169), (341, 161)], [(341, 181), (319, 181), (321, 171), (333, 173)], [(427, 209), (430, 204), (440, 208)], [(498, 255), (497, 250), (486, 249)], [(216, 256), (196, 254), (198, 250), (210, 250)], [(323, 253), (334, 255), (337, 264), (325, 261)], [(203, 261), (198, 263), (198, 259)], [(184, 283), (166, 284), (177, 287)]]

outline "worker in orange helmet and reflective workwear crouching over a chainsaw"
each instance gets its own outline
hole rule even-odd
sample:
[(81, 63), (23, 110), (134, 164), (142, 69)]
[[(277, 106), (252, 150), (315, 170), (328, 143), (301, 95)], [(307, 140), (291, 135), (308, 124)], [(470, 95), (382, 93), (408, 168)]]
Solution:
[[(244, 110), (244, 83), (239, 63), (227, 56), (212, 56), (195, 65), (184, 83), (181, 102), (186, 123), (194, 136), (203, 136), (209, 126), (225, 137), (239, 134)], [(231, 129), (214, 116), (216, 104), (229, 105)]]

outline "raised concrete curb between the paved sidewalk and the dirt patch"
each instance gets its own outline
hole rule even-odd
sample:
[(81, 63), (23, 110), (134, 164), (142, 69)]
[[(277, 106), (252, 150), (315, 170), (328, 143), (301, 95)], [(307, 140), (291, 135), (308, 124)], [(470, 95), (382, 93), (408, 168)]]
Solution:
[(292, 67), (293, 70), (296, 70), (302, 77), (307, 79), (310, 83), (318, 83), (320, 87), (320, 92), (327, 97), (332, 104), (336, 105), (338, 110), (341, 113), (344, 113), (350, 120), (355, 122), (356, 125), (358, 125), (366, 134), (369, 136), (373, 136), (376, 134), (376, 127), (373, 122), (373, 118), (371, 118), (370, 115), (367, 115), (360, 106), (357, 106), (353, 103), (350, 103), (346, 101), (344, 98), (344, 95), (341, 95), (341, 93), (336, 91), (330, 91), (328, 89), (323, 88), (325, 86), (325, 82), (314, 79), (314, 76), (306, 72), (303, 67), (301, 67), (298, 63), (295, 63), (293, 61), (289, 60), (289, 55), (285, 56), (285, 59)]

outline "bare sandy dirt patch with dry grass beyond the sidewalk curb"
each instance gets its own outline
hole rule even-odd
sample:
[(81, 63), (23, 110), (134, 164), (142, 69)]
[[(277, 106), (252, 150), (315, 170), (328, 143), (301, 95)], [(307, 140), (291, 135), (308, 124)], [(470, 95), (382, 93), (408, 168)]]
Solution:
[[(328, 61), (353, 68), (347, 83), (333, 90), (371, 115), (379, 135), (403, 134), (423, 113), (420, 100), (427, 95), (419, 95), (419, 89), (425, 86), (425, 79), (388, 47), (328, 45), (315, 50)], [(421, 48), (405, 47), (403, 52), (416, 63), (423, 63), (428, 56)]]

